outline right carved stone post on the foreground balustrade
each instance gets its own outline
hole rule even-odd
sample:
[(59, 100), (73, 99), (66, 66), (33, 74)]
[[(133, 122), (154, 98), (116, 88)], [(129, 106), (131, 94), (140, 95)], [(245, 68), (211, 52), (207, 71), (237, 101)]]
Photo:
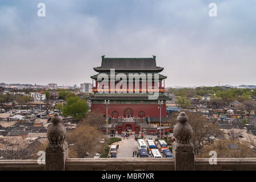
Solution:
[(187, 123), (187, 115), (181, 112), (177, 117), (178, 123), (173, 129), (173, 156), (175, 171), (194, 171), (194, 146), (191, 143), (193, 129)]

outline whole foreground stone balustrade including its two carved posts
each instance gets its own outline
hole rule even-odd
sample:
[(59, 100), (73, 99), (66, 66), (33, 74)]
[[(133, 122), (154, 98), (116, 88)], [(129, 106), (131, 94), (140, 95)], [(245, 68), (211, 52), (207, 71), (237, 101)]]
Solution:
[[(66, 129), (62, 118), (57, 113), (51, 118), (52, 124), (47, 131), (49, 144), (46, 146), (45, 160), (0, 160), (0, 170), (147, 170), (147, 171), (206, 171), (206, 170), (256, 170), (256, 158), (195, 158), (194, 146), (191, 143), (193, 130), (184, 112), (177, 118), (174, 127), (173, 158), (69, 158)], [(213, 163), (215, 160), (215, 163)]]

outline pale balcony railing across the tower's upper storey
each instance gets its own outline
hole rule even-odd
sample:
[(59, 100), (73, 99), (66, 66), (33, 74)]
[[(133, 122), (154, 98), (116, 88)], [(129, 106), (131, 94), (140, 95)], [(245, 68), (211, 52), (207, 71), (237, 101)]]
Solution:
[[(124, 92), (125, 89), (100, 89), (100, 88), (93, 88), (93, 92)], [(157, 88), (157, 89), (126, 89), (126, 92), (132, 92), (132, 93), (152, 93), (152, 92), (165, 92), (165, 88)]]

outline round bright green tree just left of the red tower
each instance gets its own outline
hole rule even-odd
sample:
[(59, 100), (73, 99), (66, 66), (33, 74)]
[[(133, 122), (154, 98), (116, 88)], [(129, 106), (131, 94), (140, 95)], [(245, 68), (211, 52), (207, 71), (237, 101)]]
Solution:
[(65, 117), (71, 115), (78, 122), (85, 117), (88, 109), (86, 101), (81, 100), (78, 96), (69, 97), (67, 98), (67, 105), (63, 106), (63, 115)]

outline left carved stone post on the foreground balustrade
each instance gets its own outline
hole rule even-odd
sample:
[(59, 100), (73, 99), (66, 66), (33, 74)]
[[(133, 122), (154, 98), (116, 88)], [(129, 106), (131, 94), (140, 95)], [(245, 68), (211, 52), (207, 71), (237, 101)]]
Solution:
[(62, 117), (59, 116), (59, 113), (54, 113), (51, 118), (51, 125), (47, 130), (49, 143), (45, 150), (46, 171), (65, 171), (66, 159), (69, 157), (68, 144), (65, 142), (66, 134)]

